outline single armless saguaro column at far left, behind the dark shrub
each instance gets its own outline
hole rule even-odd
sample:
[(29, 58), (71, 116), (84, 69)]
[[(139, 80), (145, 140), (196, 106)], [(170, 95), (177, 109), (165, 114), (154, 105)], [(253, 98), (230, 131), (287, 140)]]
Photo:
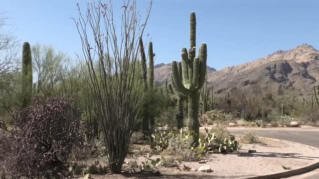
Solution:
[(28, 42), (22, 46), (22, 108), (31, 104), (32, 98), (32, 57)]

